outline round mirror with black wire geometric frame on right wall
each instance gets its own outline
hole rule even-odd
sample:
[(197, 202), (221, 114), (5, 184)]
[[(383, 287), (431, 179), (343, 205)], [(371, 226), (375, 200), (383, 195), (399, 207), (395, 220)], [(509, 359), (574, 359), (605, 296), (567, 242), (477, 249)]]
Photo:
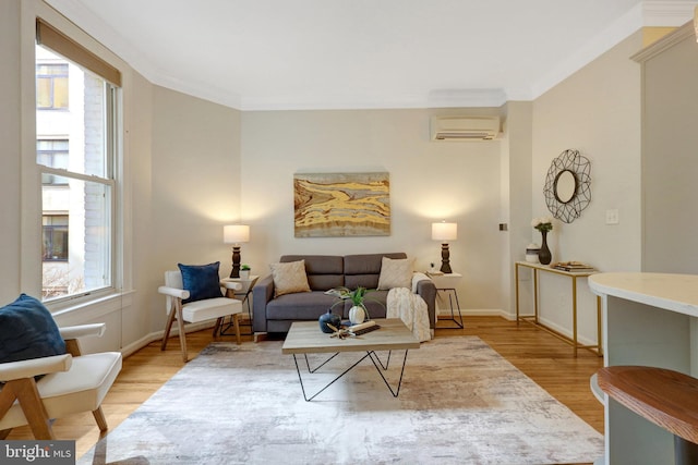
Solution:
[(579, 218), (591, 201), (591, 162), (578, 150), (565, 150), (547, 170), (543, 194), (553, 217), (565, 223)]

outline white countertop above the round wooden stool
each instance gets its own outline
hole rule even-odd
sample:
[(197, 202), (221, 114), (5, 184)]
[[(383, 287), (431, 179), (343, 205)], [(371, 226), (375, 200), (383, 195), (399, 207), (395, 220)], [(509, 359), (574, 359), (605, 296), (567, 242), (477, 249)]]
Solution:
[(670, 273), (598, 273), (589, 277), (597, 295), (611, 295), (698, 317), (698, 276)]

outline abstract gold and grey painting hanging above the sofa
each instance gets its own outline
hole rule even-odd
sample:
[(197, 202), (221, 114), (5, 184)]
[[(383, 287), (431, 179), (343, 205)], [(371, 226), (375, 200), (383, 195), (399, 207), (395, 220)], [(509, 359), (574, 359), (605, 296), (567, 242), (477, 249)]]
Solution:
[(388, 173), (293, 175), (296, 237), (390, 235)]

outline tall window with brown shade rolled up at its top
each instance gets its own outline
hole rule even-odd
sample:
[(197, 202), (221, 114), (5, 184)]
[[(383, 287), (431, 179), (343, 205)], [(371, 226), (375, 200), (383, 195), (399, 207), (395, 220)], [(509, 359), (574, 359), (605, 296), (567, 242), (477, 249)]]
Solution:
[(95, 60), (107, 70), (108, 64), (40, 20), (36, 48), (36, 163), (47, 301), (115, 287), (119, 88), (115, 75), (108, 81)]

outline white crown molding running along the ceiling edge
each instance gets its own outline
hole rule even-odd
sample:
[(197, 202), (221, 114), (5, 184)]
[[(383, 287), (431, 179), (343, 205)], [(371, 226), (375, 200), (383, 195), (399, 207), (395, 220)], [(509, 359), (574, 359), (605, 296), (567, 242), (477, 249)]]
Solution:
[(693, 19), (695, 0), (642, 1), (612, 23), (602, 34), (579, 48), (570, 50), (567, 59), (544, 73), (526, 88), (506, 89), (444, 89), (429, 95), (406, 95), (385, 99), (381, 96), (257, 96), (212, 88), (196, 82), (184, 82), (154, 66), (139, 48), (95, 15), (77, 0), (45, 0), (60, 14), (88, 35), (108, 44), (109, 50), (129, 63), (137, 73), (155, 85), (231, 107), (237, 110), (309, 110), (309, 109), (380, 109), (380, 108), (454, 108), (501, 107), (508, 100), (533, 100), (569, 77), (592, 60), (616, 46), (643, 26), (681, 26)]

